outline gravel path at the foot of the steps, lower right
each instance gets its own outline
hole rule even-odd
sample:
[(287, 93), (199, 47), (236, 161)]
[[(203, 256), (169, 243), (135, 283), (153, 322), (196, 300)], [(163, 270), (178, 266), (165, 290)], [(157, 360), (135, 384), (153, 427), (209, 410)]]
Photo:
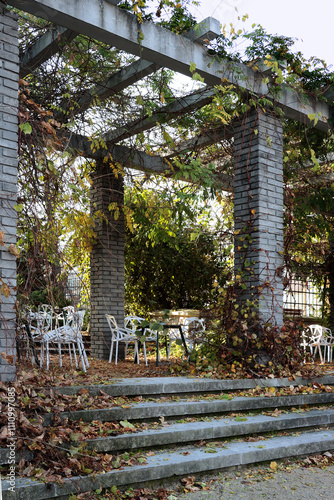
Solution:
[[(318, 500), (334, 499), (334, 466), (293, 467), (279, 470), (270, 478), (252, 470), (240, 475), (222, 475), (210, 490), (183, 493), (177, 500)], [(268, 475), (267, 475), (268, 477)]]

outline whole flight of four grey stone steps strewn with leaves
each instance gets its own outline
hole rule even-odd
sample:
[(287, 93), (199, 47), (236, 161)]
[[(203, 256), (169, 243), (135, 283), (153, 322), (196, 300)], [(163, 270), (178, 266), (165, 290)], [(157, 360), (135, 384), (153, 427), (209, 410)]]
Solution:
[[(324, 390), (310, 394), (310, 385)], [(257, 386), (266, 388), (265, 395), (231, 396), (234, 391)], [(298, 394), (275, 395), (275, 389), (292, 386), (299, 387)], [(146, 460), (104, 474), (65, 478), (62, 485), (17, 479), (16, 498), (67, 499), (83, 491), (115, 485), (139, 487), (148, 482), (159, 487), (163, 480), (176, 476), (334, 450), (334, 392), (326, 392), (324, 386), (333, 387), (334, 376), (316, 381), (122, 379), (110, 385), (58, 388), (68, 395), (84, 390), (91, 395), (103, 391), (104, 395), (136, 398), (126, 406), (62, 412), (57, 417), (47, 414), (44, 425), (52, 425), (55, 418), (101, 423), (158, 421), (155, 428), (85, 441), (90, 452), (117, 455), (144, 450)], [(140, 402), (138, 396), (143, 398)], [(4, 500), (13, 498), (9, 486), (2, 481)]]

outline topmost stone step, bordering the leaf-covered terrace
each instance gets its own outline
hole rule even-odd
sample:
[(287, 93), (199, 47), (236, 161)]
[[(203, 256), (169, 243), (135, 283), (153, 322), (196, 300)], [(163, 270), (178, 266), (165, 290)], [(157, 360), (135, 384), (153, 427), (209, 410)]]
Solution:
[[(334, 373), (334, 372), (333, 372)], [(267, 379), (235, 379), (219, 380), (191, 377), (156, 377), (138, 379), (115, 379), (113, 383), (97, 385), (81, 385), (56, 387), (55, 390), (61, 394), (74, 395), (80, 390), (88, 390), (92, 396), (97, 396), (103, 391), (109, 396), (166, 396), (172, 394), (192, 393), (215, 393), (238, 390), (255, 389), (256, 387), (296, 387), (299, 385), (334, 385), (334, 375), (304, 379), (302, 377), (290, 378), (267, 378)]]

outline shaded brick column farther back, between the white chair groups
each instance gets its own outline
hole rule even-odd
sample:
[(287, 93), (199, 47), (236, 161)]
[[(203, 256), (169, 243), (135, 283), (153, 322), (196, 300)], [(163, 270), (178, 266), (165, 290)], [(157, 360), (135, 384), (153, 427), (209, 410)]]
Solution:
[[(91, 213), (96, 218), (96, 243), (91, 252), (91, 352), (108, 359), (110, 330), (105, 314), (124, 326), (124, 184), (108, 164), (96, 162), (92, 175)], [(102, 215), (103, 214), (103, 215)]]

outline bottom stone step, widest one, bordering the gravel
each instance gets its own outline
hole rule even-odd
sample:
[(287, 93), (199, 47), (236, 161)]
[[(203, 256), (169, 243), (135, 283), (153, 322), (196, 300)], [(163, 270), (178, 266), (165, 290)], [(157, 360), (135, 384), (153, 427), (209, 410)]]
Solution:
[[(334, 449), (334, 431), (322, 430), (304, 432), (290, 436), (277, 436), (266, 441), (236, 441), (225, 448), (211, 449), (206, 447), (185, 447), (176, 451), (157, 452), (147, 457), (147, 463), (124, 467), (100, 475), (64, 479), (62, 485), (42, 483), (31, 479), (16, 479), (15, 498), (20, 500), (53, 499), (65, 500), (71, 494), (84, 491), (95, 491), (112, 486), (139, 487), (148, 481), (161, 481), (173, 476), (184, 476), (213, 470), (223, 470), (238, 465), (247, 465), (263, 461), (279, 460), (313, 453), (324, 453)], [(2, 480), (3, 500), (13, 498), (8, 480)]]

